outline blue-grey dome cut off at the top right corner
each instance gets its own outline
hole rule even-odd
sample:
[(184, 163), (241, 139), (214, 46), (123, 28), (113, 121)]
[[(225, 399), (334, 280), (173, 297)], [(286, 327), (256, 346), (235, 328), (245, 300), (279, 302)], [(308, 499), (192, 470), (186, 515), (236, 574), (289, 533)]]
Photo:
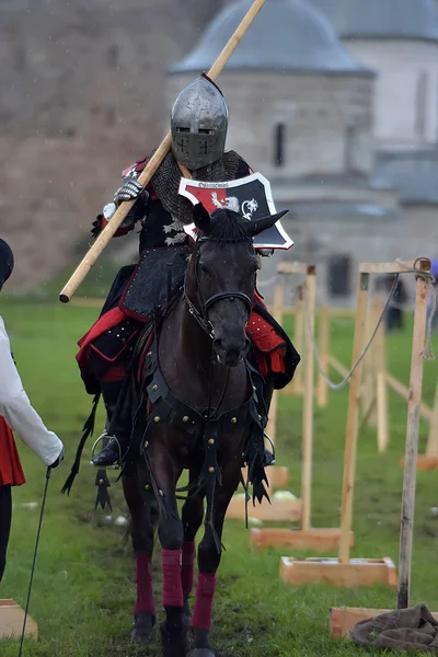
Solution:
[(341, 38), (438, 41), (434, 0), (311, 0)]

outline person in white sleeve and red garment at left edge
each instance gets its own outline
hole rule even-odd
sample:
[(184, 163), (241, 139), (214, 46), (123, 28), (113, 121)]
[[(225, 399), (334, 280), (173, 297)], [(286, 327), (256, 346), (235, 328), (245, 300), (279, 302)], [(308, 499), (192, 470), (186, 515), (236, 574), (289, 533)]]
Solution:
[[(13, 264), (9, 244), (0, 239), (0, 290), (12, 274)], [(12, 431), (45, 465), (56, 468), (62, 461), (62, 442), (46, 428), (23, 389), (0, 315), (0, 581), (4, 573), (11, 529), (11, 488), (25, 483)]]

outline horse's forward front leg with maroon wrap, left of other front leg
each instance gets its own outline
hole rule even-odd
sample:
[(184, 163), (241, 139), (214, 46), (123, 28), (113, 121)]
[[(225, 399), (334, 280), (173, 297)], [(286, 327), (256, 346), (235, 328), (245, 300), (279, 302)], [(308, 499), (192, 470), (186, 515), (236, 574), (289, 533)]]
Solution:
[(181, 471), (166, 449), (165, 440), (157, 440), (150, 462), (159, 485), (160, 518), (158, 535), (161, 543), (162, 602), (165, 621), (162, 623), (161, 645), (163, 657), (185, 657), (189, 649), (187, 620), (184, 614), (182, 585), (182, 554), (184, 531), (178, 516), (175, 487)]

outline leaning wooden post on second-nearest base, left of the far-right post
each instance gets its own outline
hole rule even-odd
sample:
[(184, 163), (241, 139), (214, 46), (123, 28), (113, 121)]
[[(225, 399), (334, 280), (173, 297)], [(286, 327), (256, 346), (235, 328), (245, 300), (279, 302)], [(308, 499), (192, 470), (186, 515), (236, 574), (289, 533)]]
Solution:
[[(365, 324), (367, 319), (369, 274), (359, 275), (357, 293), (355, 336), (353, 344), (351, 366), (362, 351)], [(339, 563), (349, 561), (349, 543), (353, 522), (353, 498), (356, 476), (356, 452), (358, 438), (358, 419), (360, 404), (361, 364), (356, 368), (349, 381), (348, 412), (345, 435), (344, 484), (342, 494)]]

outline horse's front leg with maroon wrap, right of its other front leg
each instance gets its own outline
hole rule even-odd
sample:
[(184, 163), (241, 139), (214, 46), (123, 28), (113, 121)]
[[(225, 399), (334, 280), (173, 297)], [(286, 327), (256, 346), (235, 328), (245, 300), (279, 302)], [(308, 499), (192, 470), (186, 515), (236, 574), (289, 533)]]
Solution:
[[(212, 526), (219, 541), (222, 538), (223, 521), (228, 505), (239, 485), (240, 462), (237, 460), (222, 470), (222, 485), (217, 486), (214, 496)], [(212, 602), (216, 588), (216, 573), (219, 568), (221, 552), (215, 541), (214, 530), (206, 518), (204, 538), (198, 546), (198, 583), (195, 608), (191, 627), (194, 634), (194, 649), (187, 657), (215, 657), (208, 634), (211, 626)]]

